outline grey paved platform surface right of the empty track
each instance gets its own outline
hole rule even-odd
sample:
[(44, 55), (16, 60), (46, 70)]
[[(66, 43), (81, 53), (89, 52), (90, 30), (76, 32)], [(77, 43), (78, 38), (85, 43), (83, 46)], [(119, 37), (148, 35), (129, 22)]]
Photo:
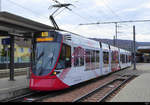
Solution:
[(136, 74), (137, 78), (127, 84), (110, 102), (150, 102), (150, 63), (138, 64), (122, 71), (123, 74)]

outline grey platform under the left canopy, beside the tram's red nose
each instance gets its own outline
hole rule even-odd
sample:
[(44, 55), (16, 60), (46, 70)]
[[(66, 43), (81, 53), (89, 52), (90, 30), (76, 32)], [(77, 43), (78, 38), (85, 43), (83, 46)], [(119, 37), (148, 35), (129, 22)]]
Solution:
[(9, 81), (9, 78), (0, 79), (0, 101), (30, 92), (26, 75), (16, 76), (14, 79), (15, 81)]

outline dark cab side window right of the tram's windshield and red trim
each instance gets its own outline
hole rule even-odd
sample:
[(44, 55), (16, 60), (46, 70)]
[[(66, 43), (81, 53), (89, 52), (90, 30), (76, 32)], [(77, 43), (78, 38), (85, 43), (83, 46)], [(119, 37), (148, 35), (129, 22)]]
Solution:
[(63, 44), (56, 70), (71, 67), (71, 47)]

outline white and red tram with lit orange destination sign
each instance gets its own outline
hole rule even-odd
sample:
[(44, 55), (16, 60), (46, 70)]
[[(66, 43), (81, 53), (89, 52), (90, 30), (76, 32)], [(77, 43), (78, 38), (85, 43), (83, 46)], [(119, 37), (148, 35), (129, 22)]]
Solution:
[(41, 32), (35, 44), (30, 89), (69, 88), (131, 66), (131, 53), (67, 32)]

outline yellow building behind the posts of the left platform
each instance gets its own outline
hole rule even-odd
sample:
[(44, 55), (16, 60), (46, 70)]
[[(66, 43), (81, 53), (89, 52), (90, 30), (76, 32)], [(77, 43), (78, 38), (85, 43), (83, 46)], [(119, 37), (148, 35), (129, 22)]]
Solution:
[[(3, 39), (9, 37), (0, 37), (0, 64), (3, 65), (0, 69), (6, 67), (6, 64), (10, 63), (10, 45), (2, 44)], [(30, 55), (31, 55), (31, 42), (23, 38), (15, 37), (15, 52), (14, 52), (14, 62), (17, 66), (20, 65), (29, 65), (30, 64)], [(4, 66), (5, 65), (5, 66)]]

